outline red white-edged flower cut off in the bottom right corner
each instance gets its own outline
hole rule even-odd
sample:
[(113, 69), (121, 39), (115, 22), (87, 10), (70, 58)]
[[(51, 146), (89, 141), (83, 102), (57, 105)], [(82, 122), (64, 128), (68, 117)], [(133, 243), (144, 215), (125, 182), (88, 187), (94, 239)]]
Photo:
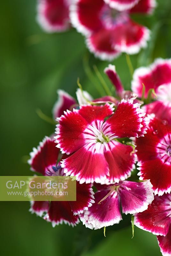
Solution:
[(171, 256), (171, 194), (154, 196), (144, 212), (135, 214), (134, 224), (157, 235), (163, 256)]

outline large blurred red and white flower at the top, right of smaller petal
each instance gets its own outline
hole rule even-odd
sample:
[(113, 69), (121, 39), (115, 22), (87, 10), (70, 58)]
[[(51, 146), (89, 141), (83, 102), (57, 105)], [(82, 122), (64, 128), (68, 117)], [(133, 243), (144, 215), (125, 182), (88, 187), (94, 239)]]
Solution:
[(86, 36), (90, 52), (112, 60), (120, 52), (135, 54), (146, 47), (150, 31), (130, 14), (148, 14), (154, 7), (155, 0), (75, 0), (70, 17), (72, 25)]

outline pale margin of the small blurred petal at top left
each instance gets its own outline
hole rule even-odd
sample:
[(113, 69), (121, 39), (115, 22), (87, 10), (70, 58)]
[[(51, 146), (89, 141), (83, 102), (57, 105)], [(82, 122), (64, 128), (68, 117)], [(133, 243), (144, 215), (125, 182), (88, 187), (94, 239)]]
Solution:
[(46, 5), (47, 5), (46, 1), (38, 0), (36, 20), (41, 26), (41, 28), (43, 28), (48, 33), (66, 31), (69, 28), (69, 21), (66, 22), (66, 24), (64, 25), (54, 25), (54, 26), (48, 22), (48, 20), (45, 18), (45, 15), (44, 15)]

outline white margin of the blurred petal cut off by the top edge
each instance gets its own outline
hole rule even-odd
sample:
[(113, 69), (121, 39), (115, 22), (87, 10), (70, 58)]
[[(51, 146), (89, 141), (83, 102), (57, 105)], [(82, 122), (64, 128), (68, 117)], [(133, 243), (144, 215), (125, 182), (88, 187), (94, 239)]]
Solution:
[(139, 0), (134, 0), (134, 2), (130, 3), (130, 4), (126, 4), (126, 3), (121, 4), (120, 3), (121, 1), (119, 1), (119, 3), (118, 3), (117, 0), (104, 0), (104, 1), (105, 1), (106, 4), (109, 4), (109, 6), (111, 8), (116, 9), (120, 12), (131, 9), (132, 7), (134, 7), (139, 2)]

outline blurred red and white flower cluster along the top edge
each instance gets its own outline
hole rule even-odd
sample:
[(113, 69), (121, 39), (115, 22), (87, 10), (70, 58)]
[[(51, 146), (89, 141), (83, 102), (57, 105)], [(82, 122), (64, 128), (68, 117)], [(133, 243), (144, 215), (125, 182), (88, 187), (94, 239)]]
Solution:
[(135, 54), (146, 47), (148, 28), (131, 14), (151, 14), (155, 0), (39, 0), (38, 22), (48, 32), (61, 32), (71, 25), (86, 37), (90, 52), (112, 60), (121, 52)]

